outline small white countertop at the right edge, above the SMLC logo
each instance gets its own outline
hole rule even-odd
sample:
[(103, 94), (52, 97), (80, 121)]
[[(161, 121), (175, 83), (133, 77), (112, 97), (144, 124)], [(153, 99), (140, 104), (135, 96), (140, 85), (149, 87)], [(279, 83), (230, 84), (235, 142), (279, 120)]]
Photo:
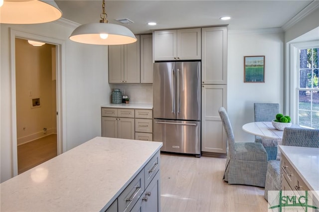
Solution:
[(279, 145), (279, 149), (319, 200), (319, 148)]

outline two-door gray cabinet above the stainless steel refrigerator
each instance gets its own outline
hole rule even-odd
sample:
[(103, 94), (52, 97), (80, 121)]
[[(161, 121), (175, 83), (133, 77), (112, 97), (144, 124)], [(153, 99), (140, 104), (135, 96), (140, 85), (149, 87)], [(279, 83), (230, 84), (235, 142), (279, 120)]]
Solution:
[(154, 31), (154, 60), (200, 60), (201, 29)]

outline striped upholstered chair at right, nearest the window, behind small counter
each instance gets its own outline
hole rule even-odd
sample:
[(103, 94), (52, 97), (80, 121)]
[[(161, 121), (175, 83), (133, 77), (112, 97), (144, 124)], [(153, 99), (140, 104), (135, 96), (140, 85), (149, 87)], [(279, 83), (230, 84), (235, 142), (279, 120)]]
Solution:
[[(286, 127), (282, 145), (319, 148), (319, 129)], [(280, 160), (270, 160), (267, 165), (264, 198), (268, 191), (281, 190)]]

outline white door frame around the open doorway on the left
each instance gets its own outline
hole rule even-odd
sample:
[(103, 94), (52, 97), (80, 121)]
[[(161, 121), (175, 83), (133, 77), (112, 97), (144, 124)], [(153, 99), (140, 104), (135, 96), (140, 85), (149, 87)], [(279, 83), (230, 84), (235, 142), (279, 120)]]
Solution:
[(65, 41), (47, 37), (35, 33), (25, 32), (10, 28), (10, 71), (11, 71), (11, 138), (12, 138), (12, 171), (13, 176), (18, 174), (17, 162), (17, 133), (16, 133), (16, 90), (15, 90), (15, 38), (33, 39), (43, 41), (56, 46), (56, 131), (57, 131), (57, 154), (66, 151), (66, 120), (63, 115), (65, 109)]

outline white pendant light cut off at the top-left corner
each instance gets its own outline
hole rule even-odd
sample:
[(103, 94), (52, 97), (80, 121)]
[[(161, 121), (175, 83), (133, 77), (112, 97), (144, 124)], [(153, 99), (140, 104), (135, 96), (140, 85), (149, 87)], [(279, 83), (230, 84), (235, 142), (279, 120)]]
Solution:
[(0, 7), (0, 23), (45, 23), (61, 16), (54, 0), (4, 0)]

